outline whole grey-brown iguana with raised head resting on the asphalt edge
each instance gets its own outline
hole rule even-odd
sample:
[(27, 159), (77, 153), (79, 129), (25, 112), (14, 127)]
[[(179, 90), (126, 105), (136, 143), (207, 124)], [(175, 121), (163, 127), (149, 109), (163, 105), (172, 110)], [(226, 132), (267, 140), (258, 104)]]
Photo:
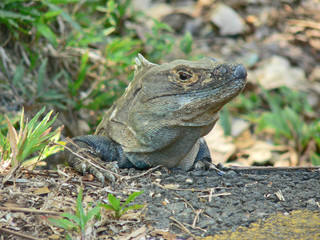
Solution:
[[(219, 118), (219, 110), (246, 84), (243, 65), (213, 58), (175, 60), (161, 65), (135, 59), (134, 79), (106, 112), (94, 135), (73, 138), (67, 147), (85, 150), (120, 168), (147, 169), (163, 165), (190, 170), (210, 163), (203, 136)], [(65, 151), (67, 162), (79, 172), (104, 181), (107, 174)]]

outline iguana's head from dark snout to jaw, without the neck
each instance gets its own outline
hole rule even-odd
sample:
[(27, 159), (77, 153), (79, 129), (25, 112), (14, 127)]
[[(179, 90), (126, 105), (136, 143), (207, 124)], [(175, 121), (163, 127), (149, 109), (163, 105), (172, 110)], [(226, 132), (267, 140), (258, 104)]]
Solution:
[(203, 126), (215, 121), (215, 114), (242, 91), (247, 72), (241, 64), (212, 58), (156, 65), (139, 55), (135, 76), (140, 107), (157, 109), (159, 118), (175, 119), (175, 124)]

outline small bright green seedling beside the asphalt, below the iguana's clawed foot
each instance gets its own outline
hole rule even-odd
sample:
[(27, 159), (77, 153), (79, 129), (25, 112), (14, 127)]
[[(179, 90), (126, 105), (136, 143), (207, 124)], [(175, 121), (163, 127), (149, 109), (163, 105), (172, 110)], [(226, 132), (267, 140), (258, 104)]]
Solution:
[(139, 196), (143, 192), (134, 192), (130, 194), (127, 198), (127, 200), (120, 204), (120, 199), (117, 199), (114, 195), (111, 193), (108, 194), (108, 200), (110, 204), (100, 204), (101, 207), (105, 208), (106, 210), (112, 210), (113, 217), (114, 218), (120, 218), (125, 212), (131, 209), (140, 209), (143, 207), (143, 205), (135, 204), (126, 207), (130, 202), (132, 202), (137, 196)]

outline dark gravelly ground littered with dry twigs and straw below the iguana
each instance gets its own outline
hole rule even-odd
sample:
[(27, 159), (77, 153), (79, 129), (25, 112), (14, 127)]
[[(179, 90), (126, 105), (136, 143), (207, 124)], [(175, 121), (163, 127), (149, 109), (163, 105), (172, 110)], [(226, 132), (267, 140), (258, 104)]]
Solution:
[[(123, 169), (120, 174), (127, 177), (106, 187), (95, 181), (83, 181), (88, 175), (81, 177), (69, 169), (64, 169), (63, 175), (60, 171), (64, 181), (55, 171), (41, 172), (45, 176), (33, 172), (15, 186), (8, 182), (0, 191), (0, 205), (4, 206), (0, 209), (0, 226), (41, 238), (63, 236), (63, 232), (46, 222), (44, 211), (74, 209), (81, 182), (85, 186), (84, 204), (108, 202), (108, 193), (124, 201), (128, 194), (144, 191), (134, 201), (146, 204), (143, 210), (129, 212), (120, 220), (112, 219), (108, 213), (102, 214), (104, 220), (95, 223), (96, 230), (91, 235), (99, 239), (128, 236), (134, 230), (145, 237), (165, 239), (213, 236), (248, 227), (258, 220), (265, 221), (274, 213), (288, 215), (300, 209), (319, 213), (319, 169), (223, 171), (224, 174), (216, 170)], [(48, 191), (41, 192), (46, 187)], [(26, 213), (21, 209), (13, 212), (12, 209), (18, 207), (39, 209), (40, 213)], [(317, 224), (320, 229), (320, 223)], [(5, 236), (5, 239), (20, 239)]]

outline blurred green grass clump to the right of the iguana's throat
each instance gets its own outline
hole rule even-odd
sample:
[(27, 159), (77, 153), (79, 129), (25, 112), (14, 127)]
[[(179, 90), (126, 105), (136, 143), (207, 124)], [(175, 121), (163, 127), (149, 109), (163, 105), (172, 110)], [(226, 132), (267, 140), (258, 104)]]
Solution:
[[(287, 87), (261, 94), (246, 92), (230, 108), (237, 109), (253, 124), (254, 133), (279, 145), (291, 147), (298, 156), (320, 165), (320, 119), (307, 101), (307, 95)], [(222, 117), (225, 116), (223, 112)], [(230, 133), (230, 124), (222, 124)], [(298, 163), (300, 164), (300, 162)]]

